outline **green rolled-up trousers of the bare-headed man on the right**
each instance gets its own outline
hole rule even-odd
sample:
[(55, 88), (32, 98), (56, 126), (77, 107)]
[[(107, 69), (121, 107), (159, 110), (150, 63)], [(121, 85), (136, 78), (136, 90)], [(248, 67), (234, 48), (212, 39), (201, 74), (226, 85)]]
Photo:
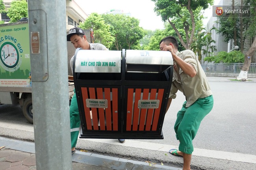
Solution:
[(200, 123), (213, 108), (213, 96), (200, 98), (193, 105), (186, 107), (186, 101), (182, 109), (177, 113), (174, 124), (176, 138), (180, 141), (179, 150), (185, 154), (192, 154), (194, 148), (192, 140), (195, 138)]

